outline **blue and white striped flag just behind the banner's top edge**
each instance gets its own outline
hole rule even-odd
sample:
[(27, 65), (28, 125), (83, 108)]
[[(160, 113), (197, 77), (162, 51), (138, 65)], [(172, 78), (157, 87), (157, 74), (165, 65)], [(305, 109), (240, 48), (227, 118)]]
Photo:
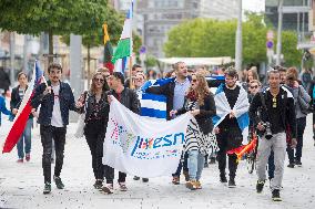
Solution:
[(161, 79), (156, 81), (151, 80), (143, 84), (141, 91), (138, 92), (141, 103), (141, 116), (166, 119), (166, 96), (145, 93), (145, 91), (152, 86), (162, 86), (174, 81), (175, 79)]

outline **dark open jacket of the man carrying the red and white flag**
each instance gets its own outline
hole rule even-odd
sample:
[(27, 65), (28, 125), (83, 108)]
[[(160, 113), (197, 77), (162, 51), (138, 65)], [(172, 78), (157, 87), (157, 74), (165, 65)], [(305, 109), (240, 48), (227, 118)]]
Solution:
[[(51, 85), (50, 81), (48, 81), (48, 85)], [(44, 96), (44, 83), (40, 84), (35, 88), (31, 105), (33, 108), (38, 108), (38, 106), (41, 105), (38, 123), (48, 126), (51, 125), (54, 95), (53, 91), (51, 91), (50, 94)], [(69, 124), (69, 111), (78, 111), (75, 107), (74, 96), (69, 84), (60, 82), (59, 100), (62, 122), (63, 125), (67, 126)]]

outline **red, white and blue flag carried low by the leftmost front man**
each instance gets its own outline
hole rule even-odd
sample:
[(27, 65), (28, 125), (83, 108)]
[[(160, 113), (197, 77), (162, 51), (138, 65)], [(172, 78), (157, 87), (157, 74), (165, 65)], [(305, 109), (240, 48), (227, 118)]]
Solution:
[(41, 71), (38, 62), (35, 62), (34, 69), (33, 69), (32, 81), (26, 92), (26, 95), (23, 96), (20, 108), (17, 113), (17, 116), (14, 117), (12, 127), (7, 136), (4, 146), (2, 149), (2, 154), (10, 153), (13, 149), (13, 147), (17, 145), (17, 143), (19, 142), (19, 138), (26, 128), (27, 122), (29, 119), (29, 115), (31, 114), (31, 111), (32, 111), (31, 100), (34, 94), (34, 90), (41, 83), (42, 80), (44, 80), (43, 71)]

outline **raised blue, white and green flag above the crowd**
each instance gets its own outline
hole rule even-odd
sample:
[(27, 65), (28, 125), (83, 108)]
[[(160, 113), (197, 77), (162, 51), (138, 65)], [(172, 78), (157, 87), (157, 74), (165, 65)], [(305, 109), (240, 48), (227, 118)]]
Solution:
[(132, 17), (133, 1), (131, 1), (131, 7), (124, 20), (120, 41), (112, 58), (112, 63), (115, 64), (115, 72), (124, 73), (126, 60), (132, 55)]

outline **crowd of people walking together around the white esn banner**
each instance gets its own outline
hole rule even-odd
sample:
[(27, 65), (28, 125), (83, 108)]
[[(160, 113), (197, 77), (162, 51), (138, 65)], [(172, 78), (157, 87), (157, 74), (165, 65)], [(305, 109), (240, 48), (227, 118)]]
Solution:
[[(172, 182), (180, 184), (183, 169), (186, 184), (191, 189), (201, 189), (202, 171), (205, 156), (216, 154), (220, 170), (220, 181), (236, 187), (237, 157), (227, 155), (226, 151), (247, 144), (247, 135), (244, 133), (242, 117), (250, 114), (250, 136), (257, 132), (260, 137), (257, 148), (257, 192), (262, 192), (266, 181), (266, 165), (273, 200), (281, 200), (280, 190), (284, 173), (285, 153), (287, 151), (288, 167), (302, 166), (303, 133), (306, 125), (306, 108), (311, 96), (298, 83), (297, 70), (291, 67), (272, 70), (267, 73), (268, 86), (262, 86), (255, 70), (247, 73), (247, 81), (238, 81), (235, 70), (221, 71), (225, 81), (214, 84), (217, 87), (215, 95), (210, 91), (213, 83), (206, 80), (203, 72), (189, 74), (184, 62), (174, 64), (174, 82), (162, 86), (152, 86), (148, 93), (166, 96), (166, 119), (173, 119), (177, 115), (190, 112), (193, 119), (190, 121), (186, 130), (185, 147), (177, 169), (173, 174)], [(145, 82), (145, 75), (140, 65), (132, 67), (132, 79), (124, 80), (119, 72), (110, 73), (100, 70), (92, 76), (92, 83), (75, 102), (69, 84), (61, 82), (62, 67), (52, 63), (48, 67), (49, 81), (40, 84), (31, 101), (33, 114), (40, 107), (38, 123), (40, 124), (41, 143), (43, 147), (42, 168), (44, 176), (43, 194), (51, 192), (51, 155), (52, 143), (55, 149), (55, 166), (53, 180), (58, 189), (63, 189), (61, 170), (64, 157), (64, 144), (69, 112), (74, 111), (85, 114), (84, 136), (92, 156), (92, 170), (95, 182), (94, 188), (105, 194), (112, 194), (114, 188), (114, 168), (103, 165), (103, 143), (109, 121), (111, 96), (135, 114), (140, 114), (141, 86)], [(17, 114), (20, 102), (28, 87), (27, 75), (18, 75), (19, 86), (13, 88), (11, 98), (11, 112)], [(313, 98), (313, 97), (312, 97)], [(302, 103), (305, 104), (302, 104)], [(30, 160), (31, 114), (24, 133), (18, 143), (19, 161)], [(248, 133), (247, 133), (248, 134)], [(251, 138), (251, 137), (250, 137)], [(287, 142), (287, 138), (291, 138)], [(26, 148), (23, 151), (23, 142)], [(294, 148), (296, 151), (294, 155)], [(226, 164), (227, 158), (227, 164)], [(226, 178), (228, 168), (228, 180)], [(119, 173), (119, 188), (126, 191), (126, 174)], [(134, 177), (134, 180), (145, 177)], [(105, 181), (105, 182), (104, 182)]]

